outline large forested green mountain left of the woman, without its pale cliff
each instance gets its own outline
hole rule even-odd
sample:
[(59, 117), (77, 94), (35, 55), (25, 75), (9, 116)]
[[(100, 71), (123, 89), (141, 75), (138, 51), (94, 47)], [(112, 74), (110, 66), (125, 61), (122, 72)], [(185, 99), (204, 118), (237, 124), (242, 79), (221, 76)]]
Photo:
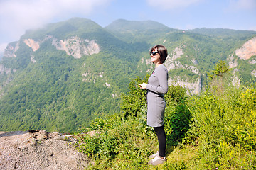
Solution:
[[(75, 59), (57, 50), (53, 38), (43, 41), (46, 36), (96, 40), (100, 52)], [(33, 51), (25, 39), (41, 42), (40, 48)], [(82, 18), (28, 31), (19, 41), (16, 57), (1, 61), (11, 69), (10, 74), (1, 74), (1, 129), (74, 131), (102, 113), (119, 112), (119, 96), (127, 92), (129, 78), (136, 73), (136, 53), (133, 45)]]

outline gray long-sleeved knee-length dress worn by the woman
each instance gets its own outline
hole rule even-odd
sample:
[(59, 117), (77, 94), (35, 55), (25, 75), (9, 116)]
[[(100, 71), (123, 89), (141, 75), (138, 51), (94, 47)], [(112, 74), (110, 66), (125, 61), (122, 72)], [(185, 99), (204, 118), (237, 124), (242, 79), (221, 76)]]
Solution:
[(147, 89), (147, 125), (159, 127), (164, 125), (164, 94), (168, 91), (168, 71), (161, 64), (149, 77)]

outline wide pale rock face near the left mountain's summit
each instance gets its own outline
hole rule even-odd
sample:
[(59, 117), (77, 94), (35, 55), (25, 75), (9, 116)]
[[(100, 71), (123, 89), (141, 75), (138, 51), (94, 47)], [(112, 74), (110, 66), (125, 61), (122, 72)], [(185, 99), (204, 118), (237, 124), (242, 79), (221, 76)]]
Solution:
[(60, 41), (53, 39), (52, 44), (57, 50), (63, 50), (74, 58), (80, 58), (82, 55), (93, 55), (100, 52), (100, 47), (95, 41), (96, 40), (83, 40), (75, 36)]

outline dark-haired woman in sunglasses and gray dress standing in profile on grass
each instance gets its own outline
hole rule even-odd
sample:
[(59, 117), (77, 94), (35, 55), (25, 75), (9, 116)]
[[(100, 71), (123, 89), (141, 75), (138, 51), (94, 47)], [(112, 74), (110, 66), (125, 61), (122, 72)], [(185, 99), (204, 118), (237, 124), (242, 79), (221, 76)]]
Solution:
[(166, 103), (164, 94), (168, 91), (168, 71), (164, 66), (167, 57), (166, 47), (156, 45), (151, 48), (151, 62), (155, 69), (148, 80), (148, 84), (139, 84), (141, 89), (147, 89), (147, 125), (154, 128), (159, 142), (159, 152), (152, 154), (151, 165), (163, 164), (166, 161), (166, 134), (164, 132), (164, 109)]

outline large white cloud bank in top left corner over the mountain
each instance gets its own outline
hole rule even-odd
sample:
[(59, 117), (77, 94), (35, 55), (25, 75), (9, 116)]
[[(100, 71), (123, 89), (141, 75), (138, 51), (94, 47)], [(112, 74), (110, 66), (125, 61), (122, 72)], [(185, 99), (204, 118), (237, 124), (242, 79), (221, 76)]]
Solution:
[[(1, 0), (1, 42), (6, 38), (18, 40), (25, 30), (43, 24), (92, 13), (97, 6), (113, 0)], [(4, 34), (4, 35), (2, 35)]]

